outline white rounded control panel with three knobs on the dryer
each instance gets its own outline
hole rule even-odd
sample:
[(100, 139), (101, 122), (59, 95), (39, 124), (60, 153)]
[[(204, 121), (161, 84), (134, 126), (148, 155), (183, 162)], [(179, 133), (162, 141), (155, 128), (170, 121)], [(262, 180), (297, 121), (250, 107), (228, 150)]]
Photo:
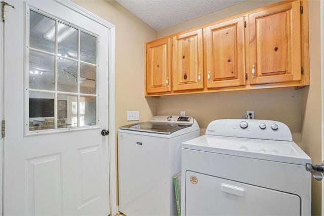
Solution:
[(290, 129), (286, 124), (261, 119), (215, 120), (208, 125), (206, 135), (292, 141)]

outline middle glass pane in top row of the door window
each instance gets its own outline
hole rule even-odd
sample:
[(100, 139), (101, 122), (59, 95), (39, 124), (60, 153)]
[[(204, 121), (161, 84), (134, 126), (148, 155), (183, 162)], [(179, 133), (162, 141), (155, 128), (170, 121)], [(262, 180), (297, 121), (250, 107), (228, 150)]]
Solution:
[(58, 23), (58, 56), (77, 59), (77, 30), (63, 23)]

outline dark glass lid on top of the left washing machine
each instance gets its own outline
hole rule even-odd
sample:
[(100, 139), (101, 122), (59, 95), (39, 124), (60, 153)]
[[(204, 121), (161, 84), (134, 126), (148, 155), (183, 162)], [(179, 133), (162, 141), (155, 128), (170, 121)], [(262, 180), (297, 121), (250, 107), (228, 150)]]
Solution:
[(150, 132), (158, 134), (172, 134), (180, 129), (190, 127), (191, 124), (165, 123), (165, 122), (140, 122), (121, 126), (120, 129), (131, 131)]

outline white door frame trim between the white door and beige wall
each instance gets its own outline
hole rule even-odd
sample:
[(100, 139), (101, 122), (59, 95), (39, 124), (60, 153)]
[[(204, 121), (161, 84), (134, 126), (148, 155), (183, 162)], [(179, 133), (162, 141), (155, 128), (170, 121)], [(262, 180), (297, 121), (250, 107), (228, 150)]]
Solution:
[(109, 191), (110, 191), (110, 215), (118, 213), (117, 206), (117, 185), (116, 185), (116, 141), (115, 141), (115, 25), (87, 11), (86, 9), (68, 0), (53, 0), (65, 7), (88, 17), (89, 19), (109, 29), (109, 93), (108, 93), (108, 123), (109, 123)]

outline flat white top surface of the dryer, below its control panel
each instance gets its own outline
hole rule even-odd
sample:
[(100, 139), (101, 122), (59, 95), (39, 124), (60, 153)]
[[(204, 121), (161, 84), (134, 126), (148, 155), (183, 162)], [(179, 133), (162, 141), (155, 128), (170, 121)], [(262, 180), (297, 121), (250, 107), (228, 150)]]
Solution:
[(300, 165), (311, 161), (292, 141), (203, 135), (184, 142), (182, 148)]

